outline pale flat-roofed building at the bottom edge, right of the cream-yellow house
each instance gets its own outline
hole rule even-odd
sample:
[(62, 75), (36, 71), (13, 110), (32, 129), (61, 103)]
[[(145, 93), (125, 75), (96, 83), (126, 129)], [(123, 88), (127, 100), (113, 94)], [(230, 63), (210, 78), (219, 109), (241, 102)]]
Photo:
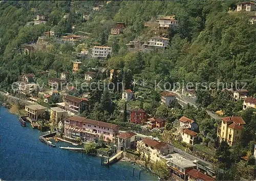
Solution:
[(170, 176), (173, 180), (188, 180), (188, 172), (197, 168), (193, 162), (186, 160), (181, 154), (174, 153), (170, 158), (165, 159), (166, 165), (170, 168)]

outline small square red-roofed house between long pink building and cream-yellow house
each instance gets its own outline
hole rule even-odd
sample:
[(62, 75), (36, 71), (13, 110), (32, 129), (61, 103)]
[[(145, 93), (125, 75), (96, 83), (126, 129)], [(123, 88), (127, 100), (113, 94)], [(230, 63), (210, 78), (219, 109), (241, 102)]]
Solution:
[(135, 136), (136, 136), (136, 133), (132, 131), (127, 131), (127, 132), (118, 134), (117, 149), (120, 151), (126, 151), (126, 149), (134, 149), (136, 146)]

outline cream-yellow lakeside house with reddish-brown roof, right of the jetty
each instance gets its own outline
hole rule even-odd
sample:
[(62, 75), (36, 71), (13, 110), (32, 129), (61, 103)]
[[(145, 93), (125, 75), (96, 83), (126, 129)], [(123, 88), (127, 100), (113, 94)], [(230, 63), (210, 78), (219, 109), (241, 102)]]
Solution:
[(162, 155), (172, 153), (174, 146), (165, 142), (144, 138), (137, 142), (137, 151), (140, 151), (142, 157), (145, 157), (146, 160), (157, 162), (161, 160)]

